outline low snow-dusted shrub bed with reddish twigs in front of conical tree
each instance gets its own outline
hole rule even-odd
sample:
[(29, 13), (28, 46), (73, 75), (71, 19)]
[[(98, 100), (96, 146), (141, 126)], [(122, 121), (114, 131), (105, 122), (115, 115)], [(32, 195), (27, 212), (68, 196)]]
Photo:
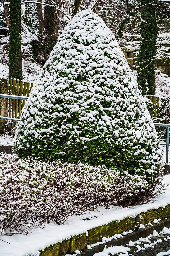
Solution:
[(136, 174), (1, 153), (0, 233), (28, 232), (50, 221), (61, 224), (68, 216), (97, 206), (126, 205), (127, 198), (139, 203), (139, 195), (142, 203), (148, 193), (153, 196), (146, 180)]

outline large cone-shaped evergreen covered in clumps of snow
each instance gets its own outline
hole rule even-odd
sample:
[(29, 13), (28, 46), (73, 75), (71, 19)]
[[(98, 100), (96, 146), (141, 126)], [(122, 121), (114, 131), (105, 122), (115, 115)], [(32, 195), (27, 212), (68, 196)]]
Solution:
[[(157, 134), (112, 32), (90, 9), (64, 29), (22, 112), (19, 156), (158, 173)], [(152, 176), (154, 177), (154, 175)]]

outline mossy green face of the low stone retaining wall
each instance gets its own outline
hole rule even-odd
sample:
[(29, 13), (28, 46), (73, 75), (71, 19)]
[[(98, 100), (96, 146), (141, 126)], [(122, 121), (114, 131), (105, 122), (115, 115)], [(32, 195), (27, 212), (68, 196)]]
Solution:
[(120, 222), (112, 221), (107, 225), (92, 228), (86, 233), (71, 237), (70, 240), (64, 240), (60, 243), (51, 245), (40, 251), (40, 256), (64, 256), (66, 253), (73, 253), (75, 250), (83, 250), (87, 244), (93, 244), (102, 241), (102, 238), (111, 237), (115, 234), (136, 229), (140, 224), (147, 224), (154, 219), (170, 218), (170, 204), (165, 208), (151, 209), (147, 212), (141, 212), (140, 215), (126, 217)]

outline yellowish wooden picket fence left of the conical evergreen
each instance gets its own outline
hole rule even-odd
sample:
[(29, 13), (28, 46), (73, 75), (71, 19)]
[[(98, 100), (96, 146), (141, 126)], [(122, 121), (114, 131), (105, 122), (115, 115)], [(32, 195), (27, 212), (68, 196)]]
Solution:
[[(33, 83), (16, 81), (16, 79), (12, 80), (11, 78), (9, 81), (1, 79), (0, 85), (0, 93), (27, 97), (33, 87)], [(25, 100), (2, 98), (0, 99), (0, 116), (20, 119), (21, 110), (24, 105)]]

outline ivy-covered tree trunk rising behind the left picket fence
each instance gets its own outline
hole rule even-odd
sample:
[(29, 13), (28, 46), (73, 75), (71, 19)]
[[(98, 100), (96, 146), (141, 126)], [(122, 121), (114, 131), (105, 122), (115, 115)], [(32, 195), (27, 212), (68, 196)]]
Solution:
[(10, 1), (9, 17), (9, 77), (22, 79), (21, 1)]

